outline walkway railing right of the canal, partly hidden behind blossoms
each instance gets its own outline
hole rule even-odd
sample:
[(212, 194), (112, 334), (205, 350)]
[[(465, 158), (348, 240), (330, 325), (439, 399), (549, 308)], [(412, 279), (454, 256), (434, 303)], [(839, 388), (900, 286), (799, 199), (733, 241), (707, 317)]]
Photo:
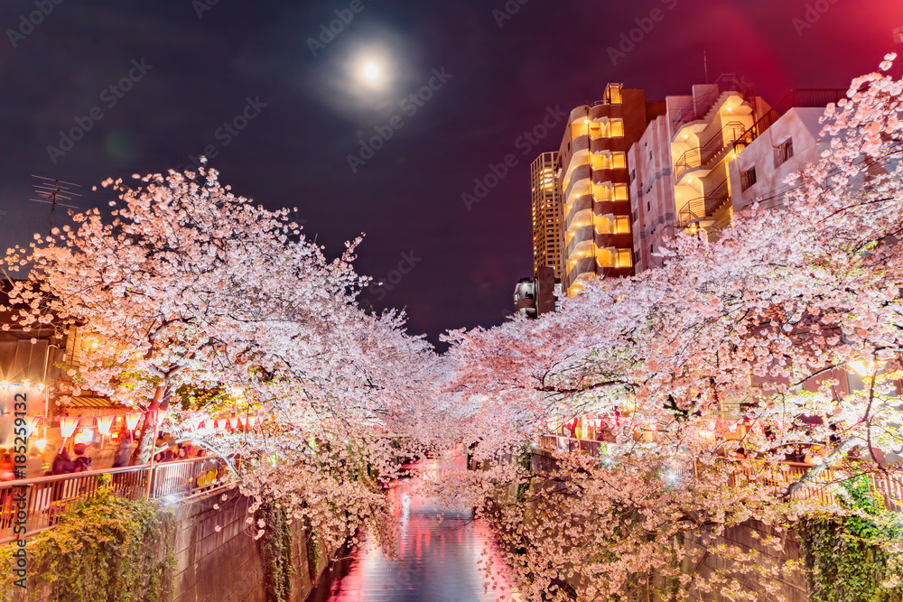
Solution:
[[(603, 446), (614, 445), (603, 441), (572, 439), (558, 435), (542, 435), (539, 445), (543, 449), (557, 451), (577, 451), (588, 453), (591, 456), (603, 456)], [(722, 458), (722, 463), (735, 463), (737, 468), (731, 474), (731, 486), (740, 486), (746, 483), (759, 483), (763, 486), (772, 486), (776, 494), (782, 495), (787, 487), (796, 483), (815, 467), (814, 464), (804, 462), (781, 462), (775, 466), (763, 460)], [(673, 463), (669, 469), (676, 477), (700, 478), (704, 476), (705, 468), (701, 468), (695, 461), (687, 463)], [(700, 473), (703, 473), (701, 475)], [(798, 500), (815, 499), (819, 504), (839, 504), (837, 496), (833, 493), (836, 485), (849, 477), (838, 470), (828, 468), (812, 479), (811, 483), (800, 488), (794, 494)], [(892, 512), (903, 512), (903, 475), (899, 473), (872, 474), (869, 476), (869, 488), (873, 494), (880, 495), (884, 505)]]

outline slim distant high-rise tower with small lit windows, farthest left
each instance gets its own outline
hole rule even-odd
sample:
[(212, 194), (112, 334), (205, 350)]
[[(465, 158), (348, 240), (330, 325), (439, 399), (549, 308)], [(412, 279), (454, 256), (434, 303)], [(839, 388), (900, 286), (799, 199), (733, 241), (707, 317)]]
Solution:
[(558, 153), (542, 153), (530, 165), (533, 201), (533, 274), (540, 268), (554, 268), (562, 277), (562, 208), (558, 202), (555, 171)]

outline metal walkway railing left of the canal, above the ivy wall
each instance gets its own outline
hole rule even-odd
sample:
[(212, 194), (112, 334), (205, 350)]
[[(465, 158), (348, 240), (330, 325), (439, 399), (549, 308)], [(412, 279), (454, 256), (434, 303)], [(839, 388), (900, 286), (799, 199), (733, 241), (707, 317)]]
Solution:
[[(154, 464), (154, 468), (144, 465), (7, 481), (0, 484), (0, 543), (53, 526), (72, 505), (97, 494), (101, 475), (110, 475), (110, 486), (129, 499), (147, 495), (148, 478), (152, 497), (175, 499), (218, 486), (228, 480), (229, 473), (221, 458), (211, 456)], [(19, 509), (22, 502), (24, 517)], [(24, 518), (23, 535), (14, 533), (17, 513), (18, 519)]]

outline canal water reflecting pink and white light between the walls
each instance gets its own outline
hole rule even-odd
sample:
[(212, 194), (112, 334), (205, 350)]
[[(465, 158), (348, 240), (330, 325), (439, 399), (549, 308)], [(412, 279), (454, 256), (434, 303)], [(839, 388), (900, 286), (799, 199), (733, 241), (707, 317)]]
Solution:
[(418, 481), (443, 470), (464, 470), (461, 458), (428, 460), (416, 476), (400, 481), (395, 496), (399, 519), (399, 558), (388, 560), (379, 547), (361, 543), (333, 563), (308, 602), (514, 602), (502, 560), (495, 563), (491, 586), (484, 591), (485, 573), (478, 564), (483, 552), (496, 556), (489, 526), (472, 520), (468, 512), (445, 512), (434, 500), (417, 493)]

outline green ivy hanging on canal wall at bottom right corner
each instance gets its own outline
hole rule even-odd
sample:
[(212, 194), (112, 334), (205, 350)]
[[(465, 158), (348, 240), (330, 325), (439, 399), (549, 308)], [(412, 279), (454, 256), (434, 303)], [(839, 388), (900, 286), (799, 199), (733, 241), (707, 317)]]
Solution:
[(844, 504), (857, 514), (821, 514), (797, 525), (813, 602), (900, 602), (903, 585), (889, 542), (901, 535), (898, 517), (871, 494), (868, 480), (853, 479)]

